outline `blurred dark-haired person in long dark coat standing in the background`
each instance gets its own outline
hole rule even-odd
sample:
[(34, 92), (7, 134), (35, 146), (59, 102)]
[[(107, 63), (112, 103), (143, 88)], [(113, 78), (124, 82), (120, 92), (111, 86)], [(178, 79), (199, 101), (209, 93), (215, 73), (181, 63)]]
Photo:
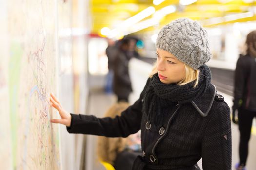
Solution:
[(129, 55), (129, 39), (122, 39), (119, 42), (119, 49), (114, 60), (114, 82), (113, 91), (117, 95), (118, 102), (128, 102), (128, 97), (132, 92), (132, 84), (129, 75), (128, 64), (131, 56)]

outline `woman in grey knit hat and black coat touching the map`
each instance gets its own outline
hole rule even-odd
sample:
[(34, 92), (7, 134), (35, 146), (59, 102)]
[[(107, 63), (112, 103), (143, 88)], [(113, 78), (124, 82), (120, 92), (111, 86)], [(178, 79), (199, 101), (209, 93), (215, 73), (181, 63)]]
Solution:
[(157, 61), (139, 99), (121, 116), (69, 114), (51, 95), (61, 116), (53, 123), (69, 133), (127, 137), (141, 129), (141, 156), (132, 170), (231, 170), (230, 109), (205, 63), (212, 54), (207, 32), (180, 18), (157, 38)]

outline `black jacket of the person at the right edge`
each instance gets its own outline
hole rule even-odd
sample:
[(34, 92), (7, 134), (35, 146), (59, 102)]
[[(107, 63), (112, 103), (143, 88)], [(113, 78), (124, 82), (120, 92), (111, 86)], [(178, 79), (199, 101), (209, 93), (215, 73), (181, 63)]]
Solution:
[(240, 55), (237, 60), (233, 102), (233, 110), (242, 106), (247, 110), (256, 111), (256, 58), (254, 57)]

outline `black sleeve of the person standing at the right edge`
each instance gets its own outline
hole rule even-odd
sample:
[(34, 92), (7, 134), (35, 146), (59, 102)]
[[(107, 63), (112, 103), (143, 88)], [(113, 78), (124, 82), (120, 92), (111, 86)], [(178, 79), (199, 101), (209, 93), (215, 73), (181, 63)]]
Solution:
[(233, 107), (232, 107), (233, 110), (239, 107), (239, 101), (243, 99), (244, 89), (246, 85), (248, 68), (246, 68), (244, 57), (245, 56), (240, 56), (236, 63), (234, 99), (233, 99)]

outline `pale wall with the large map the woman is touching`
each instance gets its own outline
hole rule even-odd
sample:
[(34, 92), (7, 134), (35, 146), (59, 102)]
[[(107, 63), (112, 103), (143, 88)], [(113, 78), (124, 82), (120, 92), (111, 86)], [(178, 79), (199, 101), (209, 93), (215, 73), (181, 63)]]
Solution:
[[(50, 93), (66, 110), (85, 111), (86, 37), (74, 38), (72, 27), (85, 29), (84, 21), (74, 23), (73, 16), (84, 16), (88, 6), (75, 15), (74, 3), (0, 0), (1, 170), (71, 170), (84, 162), (83, 138), (50, 123), (59, 118), (49, 105)], [(81, 58), (83, 69), (75, 74), (74, 63)]]

